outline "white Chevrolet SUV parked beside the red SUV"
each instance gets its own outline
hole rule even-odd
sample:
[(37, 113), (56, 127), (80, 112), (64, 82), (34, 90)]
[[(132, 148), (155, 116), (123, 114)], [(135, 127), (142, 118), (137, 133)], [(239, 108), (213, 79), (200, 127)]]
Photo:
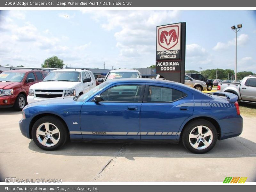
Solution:
[(86, 69), (57, 69), (42, 82), (30, 86), (28, 104), (55, 97), (81, 95), (96, 86), (92, 71)]

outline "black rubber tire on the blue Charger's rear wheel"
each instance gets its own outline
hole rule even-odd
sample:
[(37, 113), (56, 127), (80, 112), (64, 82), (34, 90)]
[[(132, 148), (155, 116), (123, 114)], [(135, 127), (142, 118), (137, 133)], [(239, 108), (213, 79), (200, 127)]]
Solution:
[[(197, 129), (198, 126), (203, 127), (202, 135), (199, 135), (198, 132), (193, 133), (193, 131), (196, 131), (196, 130), (198, 131), (198, 129)], [(209, 129), (210, 131), (207, 129)], [(195, 138), (195, 139), (189, 138), (190, 132), (193, 134), (193, 136), (194, 136), (194, 134), (196, 137), (198, 136), (198, 139), (200, 141), (198, 142), (197, 138)], [(207, 133), (212, 133), (212, 136), (202, 137), (202, 136), (204, 136), (203, 134), (207, 134)], [(184, 147), (187, 148), (190, 152), (196, 153), (196, 154), (203, 154), (203, 153), (207, 153), (214, 147), (214, 145), (217, 142), (217, 137), (218, 137), (217, 130), (214, 127), (214, 125), (209, 121), (206, 121), (204, 119), (199, 119), (199, 120), (190, 122), (188, 125), (186, 125), (186, 127), (184, 127), (184, 131), (182, 133), (181, 139), (182, 139), (182, 143), (183, 143)], [(204, 141), (202, 140), (202, 138)], [(206, 143), (206, 141), (207, 141), (207, 145), (210, 143), (207, 147), (204, 144), (204, 143)], [(196, 143), (199, 144), (198, 147), (197, 148), (192, 147), (192, 145), (196, 144)]]

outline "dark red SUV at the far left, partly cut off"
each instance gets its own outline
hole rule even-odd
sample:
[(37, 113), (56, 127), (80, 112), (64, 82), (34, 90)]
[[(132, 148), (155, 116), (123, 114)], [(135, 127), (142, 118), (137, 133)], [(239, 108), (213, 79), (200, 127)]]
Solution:
[(29, 87), (41, 82), (48, 73), (38, 69), (12, 69), (0, 74), (0, 108), (21, 111), (27, 105)]

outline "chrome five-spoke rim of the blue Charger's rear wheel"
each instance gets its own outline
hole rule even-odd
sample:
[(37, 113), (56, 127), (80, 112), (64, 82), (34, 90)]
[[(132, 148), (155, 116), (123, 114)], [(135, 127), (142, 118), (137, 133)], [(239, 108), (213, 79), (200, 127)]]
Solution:
[(190, 145), (198, 150), (209, 147), (213, 140), (211, 129), (204, 125), (196, 126), (188, 136)]

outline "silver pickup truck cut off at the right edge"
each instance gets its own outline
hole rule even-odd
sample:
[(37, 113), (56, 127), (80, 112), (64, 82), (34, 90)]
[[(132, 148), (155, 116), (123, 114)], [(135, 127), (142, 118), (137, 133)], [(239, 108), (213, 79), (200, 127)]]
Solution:
[(217, 90), (234, 93), (241, 102), (256, 103), (256, 76), (244, 77), (240, 83), (219, 83)]

